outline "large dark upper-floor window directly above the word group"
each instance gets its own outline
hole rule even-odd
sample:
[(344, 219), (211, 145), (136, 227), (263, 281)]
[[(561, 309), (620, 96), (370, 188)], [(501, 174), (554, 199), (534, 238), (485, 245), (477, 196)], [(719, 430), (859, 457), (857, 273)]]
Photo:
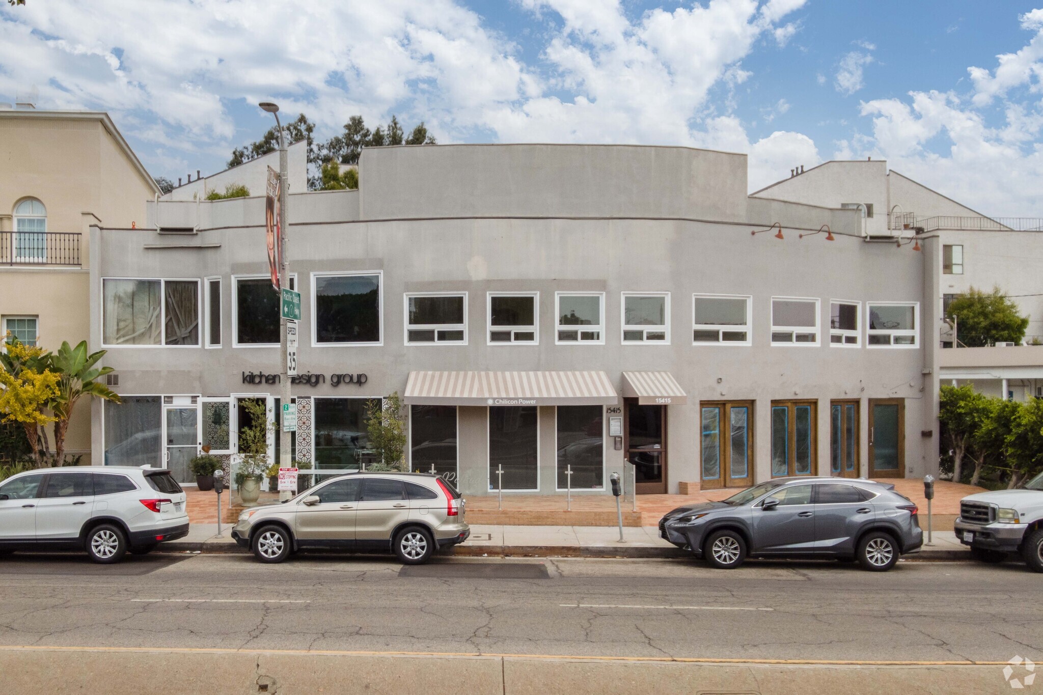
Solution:
[(312, 345), (384, 345), (384, 271), (312, 273)]

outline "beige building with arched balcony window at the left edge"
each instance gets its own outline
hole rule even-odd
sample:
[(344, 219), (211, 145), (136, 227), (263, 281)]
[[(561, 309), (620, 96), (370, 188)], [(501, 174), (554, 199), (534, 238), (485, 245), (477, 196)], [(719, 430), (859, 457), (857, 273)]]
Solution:
[[(0, 331), (52, 350), (87, 340), (89, 226), (141, 225), (159, 194), (107, 114), (0, 108)], [(67, 436), (84, 464), (90, 417), (81, 403)]]

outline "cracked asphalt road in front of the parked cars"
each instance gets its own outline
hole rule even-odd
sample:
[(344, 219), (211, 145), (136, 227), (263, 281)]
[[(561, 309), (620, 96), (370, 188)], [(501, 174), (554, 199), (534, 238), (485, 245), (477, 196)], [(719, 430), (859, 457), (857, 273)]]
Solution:
[(0, 644), (1043, 662), (1023, 565), (247, 555), (0, 559)]

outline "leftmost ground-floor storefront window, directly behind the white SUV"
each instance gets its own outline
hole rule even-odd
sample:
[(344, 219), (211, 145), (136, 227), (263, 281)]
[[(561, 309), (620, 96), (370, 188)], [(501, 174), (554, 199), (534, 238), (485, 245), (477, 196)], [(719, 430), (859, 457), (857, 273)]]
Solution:
[(160, 396), (123, 396), (105, 401), (105, 465), (160, 466), (163, 451)]

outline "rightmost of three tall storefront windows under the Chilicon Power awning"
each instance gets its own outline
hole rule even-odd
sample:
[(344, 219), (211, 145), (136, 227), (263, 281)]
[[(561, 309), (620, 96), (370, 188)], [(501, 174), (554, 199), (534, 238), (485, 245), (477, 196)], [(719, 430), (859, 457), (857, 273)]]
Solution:
[(557, 411), (558, 489), (567, 487), (569, 466), (573, 490), (603, 488), (605, 438), (601, 405), (559, 405)]

